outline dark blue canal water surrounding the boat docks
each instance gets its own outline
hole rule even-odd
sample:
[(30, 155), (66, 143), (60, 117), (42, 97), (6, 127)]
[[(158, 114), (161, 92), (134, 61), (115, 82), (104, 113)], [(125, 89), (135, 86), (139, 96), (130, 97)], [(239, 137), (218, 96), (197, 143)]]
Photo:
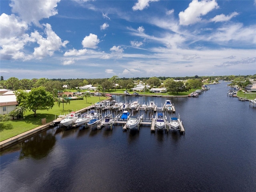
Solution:
[[(253, 192), (256, 108), (227, 96), (227, 83), (198, 98), (172, 98), (184, 124), (150, 132), (50, 128), (1, 151), (2, 192)], [(164, 97), (113, 96), (117, 101)], [(146, 116), (150, 116), (149, 112)]]

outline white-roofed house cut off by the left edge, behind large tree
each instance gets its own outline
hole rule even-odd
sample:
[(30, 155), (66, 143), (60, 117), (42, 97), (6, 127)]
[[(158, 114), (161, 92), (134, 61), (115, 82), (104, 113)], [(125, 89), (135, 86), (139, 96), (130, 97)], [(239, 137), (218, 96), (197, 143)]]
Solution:
[(18, 106), (16, 95), (1, 95), (0, 96), (0, 114), (8, 114)]

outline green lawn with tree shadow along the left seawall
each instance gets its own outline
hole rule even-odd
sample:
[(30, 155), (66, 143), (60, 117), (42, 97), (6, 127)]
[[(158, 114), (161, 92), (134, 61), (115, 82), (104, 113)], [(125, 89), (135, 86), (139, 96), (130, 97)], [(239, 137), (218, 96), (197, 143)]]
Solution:
[(21, 120), (10, 120), (8, 122), (0, 122), (0, 141), (6, 140), (33, 128), (36, 128), (41, 124), (41, 119), (46, 118), (46, 122), (51, 122), (55, 119), (55, 115), (64, 115), (68, 112), (80, 110), (82, 108), (88, 107), (99, 100), (105, 100), (106, 97), (101, 96), (100, 99), (98, 96), (92, 96), (84, 100), (71, 100), (70, 104), (64, 103), (64, 110), (62, 104), (60, 107), (57, 102), (54, 103), (54, 106), (50, 110), (37, 110), (36, 117), (34, 117), (34, 112), (27, 111), (24, 114), (24, 118)]

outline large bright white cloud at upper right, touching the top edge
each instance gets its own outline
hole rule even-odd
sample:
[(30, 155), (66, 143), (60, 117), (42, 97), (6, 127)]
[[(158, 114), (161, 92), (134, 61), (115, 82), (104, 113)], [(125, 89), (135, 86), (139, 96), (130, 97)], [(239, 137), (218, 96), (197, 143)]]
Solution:
[(180, 25), (190, 25), (201, 21), (201, 16), (208, 14), (213, 9), (218, 8), (215, 0), (192, 0), (188, 8), (179, 13)]

